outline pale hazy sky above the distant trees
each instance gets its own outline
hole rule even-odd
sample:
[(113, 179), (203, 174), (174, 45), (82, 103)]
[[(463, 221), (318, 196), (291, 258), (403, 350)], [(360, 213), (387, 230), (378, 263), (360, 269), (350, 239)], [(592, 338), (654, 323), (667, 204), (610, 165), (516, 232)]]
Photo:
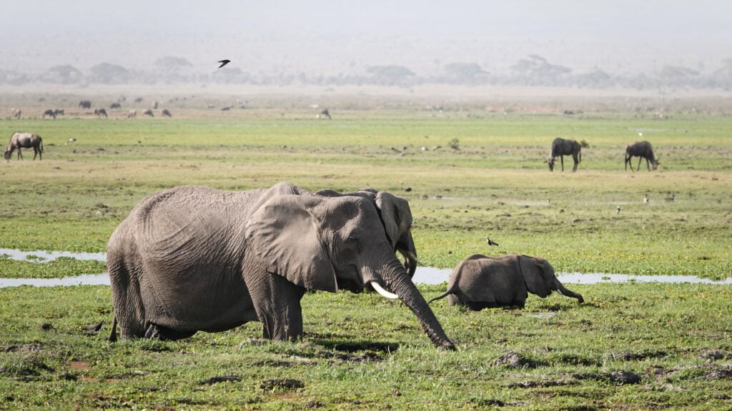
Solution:
[(731, 16), (722, 0), (3, 1), (0, 69), (146, 67), (169, 55), (197, 69), (229, 58), (253, 71), (429, 72), (450, 61), (501, 69), (529, 53), (579, 69), (698, 68), (732, 58)]

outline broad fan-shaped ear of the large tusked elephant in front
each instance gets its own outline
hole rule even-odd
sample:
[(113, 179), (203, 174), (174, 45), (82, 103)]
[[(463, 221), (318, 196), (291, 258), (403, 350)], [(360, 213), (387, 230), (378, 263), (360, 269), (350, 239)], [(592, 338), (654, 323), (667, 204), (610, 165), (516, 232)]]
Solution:
[(308, 211), (312, 198), (274, 197), (247, 223), (247, 253), (254, 253), (267, 271), (308, 290), (335, 293), (338, 285), (321, 228)]

